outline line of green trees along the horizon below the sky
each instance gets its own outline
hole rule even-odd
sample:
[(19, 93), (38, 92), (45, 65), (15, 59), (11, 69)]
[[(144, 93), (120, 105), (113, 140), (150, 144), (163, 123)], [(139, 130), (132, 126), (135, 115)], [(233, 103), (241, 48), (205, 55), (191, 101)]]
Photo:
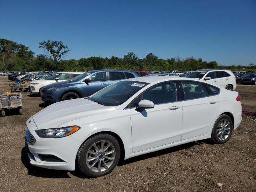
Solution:
[(40, 42), (40, 48), (44, 48), (46, 54), (34, 56), (34, 52), (27, 46), (16, 42), (0, 39), (0, 70), (4, 71), (89, 71), (95, 69), (125, 69), (143, 71), (168, 71), (168, 70), (198, 70), (212, 68), (226, 68), (230, 70), (256, 69), (256, 65), (248, 66), (220, 66), (216, 61), (203, 61), (202, 58), (180, 57), (161, 59), (149, 53), (140, 59), (129, 52), (123, 58), (112, 56), (111, 58), (89, 57), (63, 60), (64, 54), (69, 52), (67, 46), (62, 42), (44, 41)]

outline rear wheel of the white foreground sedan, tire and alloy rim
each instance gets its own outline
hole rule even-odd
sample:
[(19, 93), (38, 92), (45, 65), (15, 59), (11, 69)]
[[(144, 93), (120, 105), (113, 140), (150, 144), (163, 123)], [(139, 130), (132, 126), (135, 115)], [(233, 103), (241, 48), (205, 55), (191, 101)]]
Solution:
[(233, 132), (233, 122), (228, 115), (220, 115), (212, 128), (210, 140), (217, 144), (226, 143)]

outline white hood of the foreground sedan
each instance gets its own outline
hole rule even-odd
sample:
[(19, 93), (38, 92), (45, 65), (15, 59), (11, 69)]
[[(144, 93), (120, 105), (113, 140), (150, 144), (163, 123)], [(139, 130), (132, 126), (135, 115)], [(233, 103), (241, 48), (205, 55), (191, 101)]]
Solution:
[(104, 106), (88, 99), (80, 98), (52, 104), (33, 116), (37, 128), (57, 128), (72, 120), (95, 114), (116, 111), (117, 106)]

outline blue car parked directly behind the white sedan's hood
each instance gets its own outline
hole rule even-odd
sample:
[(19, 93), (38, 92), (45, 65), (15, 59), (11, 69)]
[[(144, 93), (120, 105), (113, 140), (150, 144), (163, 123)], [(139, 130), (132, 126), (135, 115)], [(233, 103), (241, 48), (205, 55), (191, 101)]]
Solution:
[(139, 77), (134, 71), (128, 70), (93, 70), (75, 78), (50, 84), (42, 88), (44, 102), (59, 102), (64, 100), (88, 97), (97, 91), (122, 79)]

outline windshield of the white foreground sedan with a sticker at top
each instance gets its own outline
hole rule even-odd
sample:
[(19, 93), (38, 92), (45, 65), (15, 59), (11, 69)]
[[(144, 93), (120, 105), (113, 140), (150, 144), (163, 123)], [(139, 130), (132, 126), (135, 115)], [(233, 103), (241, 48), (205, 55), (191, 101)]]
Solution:
[(138, 81), (119, 81), (96, 92), (88, 99), (104, 106), (117, 106), (123, 104), (146, 85), (148, 85), (148, 83)]

